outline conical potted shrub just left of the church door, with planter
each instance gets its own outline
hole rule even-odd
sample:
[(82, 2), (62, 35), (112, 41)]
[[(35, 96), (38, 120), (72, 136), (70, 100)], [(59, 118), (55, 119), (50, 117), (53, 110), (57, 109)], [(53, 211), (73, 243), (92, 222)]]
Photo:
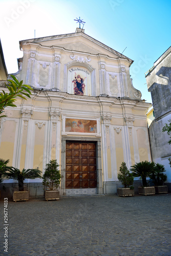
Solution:
[(58, 200), (59, 199), (59, 184), (60, 184), (60, 170), (57, 160), (51, 160), (46, 164), (45, 173), (42, 176), (42, 184), (45, 186), (45, 200)]

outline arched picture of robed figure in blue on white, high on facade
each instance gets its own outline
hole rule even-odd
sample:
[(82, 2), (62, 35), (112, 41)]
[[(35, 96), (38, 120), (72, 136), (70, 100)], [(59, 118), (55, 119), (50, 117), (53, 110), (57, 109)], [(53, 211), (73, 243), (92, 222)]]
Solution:
[(91, 73), (84, 67), (68, 70), (68, 93), (91, 96)]

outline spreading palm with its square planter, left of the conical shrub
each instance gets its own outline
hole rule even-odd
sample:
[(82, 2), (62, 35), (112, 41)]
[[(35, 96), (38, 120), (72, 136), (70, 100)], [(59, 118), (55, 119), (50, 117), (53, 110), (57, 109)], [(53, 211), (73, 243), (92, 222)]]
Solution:
[(18, 181), (18, 190), (13, 193), (13, 201), (28, 201), (29, 191), (24, 191), (25, 179), (41, 178), (41, 172), (38, 169), (23, 169), (20, 171), (15, 167), (8, 167), (5, 172), (5, 177)]

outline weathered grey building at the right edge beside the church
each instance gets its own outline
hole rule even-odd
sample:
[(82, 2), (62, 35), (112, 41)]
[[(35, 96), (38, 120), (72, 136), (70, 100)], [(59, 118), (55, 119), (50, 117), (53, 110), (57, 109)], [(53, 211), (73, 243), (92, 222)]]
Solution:
[(167, 185), (171, 189), (171, 157), (169, 136), (162, 132), (163, 126), (171, 120), (171, 47), (169, 47), (146, 73), (148, 91), (151, 92), (155, 119), (149, 126), (152, 160), (163, 164), (167, 170)]

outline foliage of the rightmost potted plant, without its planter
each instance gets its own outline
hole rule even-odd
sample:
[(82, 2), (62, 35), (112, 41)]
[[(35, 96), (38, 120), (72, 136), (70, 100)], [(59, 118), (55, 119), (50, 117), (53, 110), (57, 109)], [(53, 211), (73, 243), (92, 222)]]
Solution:
[(153, 180), (155, 186), (162, 186), (167, 180), (167, 175), (163, 174), (164, 172), (166, 172), (164, 165), (157, 163), (152, 174), (149, 175), (149, 178)]

